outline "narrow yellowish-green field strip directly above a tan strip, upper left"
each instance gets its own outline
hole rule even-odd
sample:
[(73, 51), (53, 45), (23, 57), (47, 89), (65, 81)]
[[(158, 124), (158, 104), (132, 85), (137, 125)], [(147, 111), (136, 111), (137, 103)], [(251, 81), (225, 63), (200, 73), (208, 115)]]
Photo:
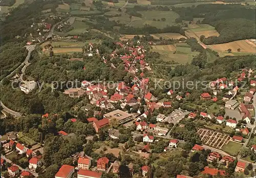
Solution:
[(81, 41), (47, 41), (41, 44), (41, 47), (44, 47), (46, 44), (51, 44), (53, 48), (63, 48), (63, 47), (70, 47), (70, 48), (76, 48), (76, 47), (82, 47), (84, 45)]

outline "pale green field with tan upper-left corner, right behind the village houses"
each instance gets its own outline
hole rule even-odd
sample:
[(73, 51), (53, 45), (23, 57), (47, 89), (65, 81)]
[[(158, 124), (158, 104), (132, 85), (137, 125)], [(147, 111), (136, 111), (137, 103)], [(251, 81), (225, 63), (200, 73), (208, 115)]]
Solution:
[[(155, 48), (155, 49), (154, 49)], [(167, 47), (154, 47), (151, 51), (161, 54), (160, 59), (163, 61), (175, 61), (181, 64), (190, 63), (191, 60), (199, 54), (199, 52), (191, 52), (190, 47), (173, 46), (170, 44)], [(176, 48), (176, 54), (174, 54)]]

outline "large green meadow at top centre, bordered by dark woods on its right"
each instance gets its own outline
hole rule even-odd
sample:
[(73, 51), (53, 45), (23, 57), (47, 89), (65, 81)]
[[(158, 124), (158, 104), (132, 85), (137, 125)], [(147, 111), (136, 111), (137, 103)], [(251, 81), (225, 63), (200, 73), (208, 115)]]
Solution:
[[(139, 11), (142, 14), (141, 20), (135, 20), (129, 26), (135, 28), (144, 27), (145, 24), (151, 25), (153, 27), (157, 27), (159, 29), (165, 28), (167, 25), (172, 26), (176, 25), (175, 19), (179, 17), (179, 15), (173, 11)], [(156, 19), (154, 21), (153, 19)], [(165, 21), (162, 21), (161, 18), (165, 18)], [(157, 21), (160, 19), (160, 21)]]

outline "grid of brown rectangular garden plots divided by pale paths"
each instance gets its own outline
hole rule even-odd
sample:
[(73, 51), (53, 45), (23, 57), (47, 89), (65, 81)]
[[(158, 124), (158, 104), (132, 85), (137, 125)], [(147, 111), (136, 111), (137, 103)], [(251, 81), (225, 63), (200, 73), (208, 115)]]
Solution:
[(215, 147), (218, 149), (221, 149), (230, 140), (230, 137), (228, 135), (218, 131), (209, 130), (209, 129), (200, 128), (197, 131), (197, 133), (200, 136), (201, 141), (205, 145), (209, 145), (211, 147)]

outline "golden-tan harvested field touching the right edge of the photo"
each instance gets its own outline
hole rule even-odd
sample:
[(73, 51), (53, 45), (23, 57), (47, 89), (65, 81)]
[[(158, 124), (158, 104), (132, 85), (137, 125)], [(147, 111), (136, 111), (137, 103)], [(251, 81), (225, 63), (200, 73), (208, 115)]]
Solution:
[[(217, 52), (225, 52), (228, 49), (231, 49), (233, 52), (237, 52), (237, 50), (240, 48), (241, 53), (255, 53), (255, 44), (253, 46), (253, 43), (249, 42), (246, 39), (227, 42), (223, 44), (211, 44), (211, 45), (208, 45), (208, 47)], [(237, 52), (237, 53), (240, 53), (240, 52)]]

